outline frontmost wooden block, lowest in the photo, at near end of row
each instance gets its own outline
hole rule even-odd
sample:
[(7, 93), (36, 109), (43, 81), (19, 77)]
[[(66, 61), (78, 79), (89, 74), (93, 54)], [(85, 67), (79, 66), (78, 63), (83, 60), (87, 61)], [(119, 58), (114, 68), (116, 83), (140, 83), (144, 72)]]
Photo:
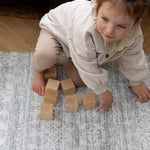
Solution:
[(49, 103), (41, 103), (40, 120), (53, 120), (53, 105)]

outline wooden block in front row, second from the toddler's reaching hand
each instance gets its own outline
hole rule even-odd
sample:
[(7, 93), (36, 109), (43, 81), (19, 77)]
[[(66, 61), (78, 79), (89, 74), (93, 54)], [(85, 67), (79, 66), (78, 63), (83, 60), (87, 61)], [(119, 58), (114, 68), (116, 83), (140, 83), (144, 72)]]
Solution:
[(78, 105), (77, 96), (66, 96), (66, 112), (78, 112)]

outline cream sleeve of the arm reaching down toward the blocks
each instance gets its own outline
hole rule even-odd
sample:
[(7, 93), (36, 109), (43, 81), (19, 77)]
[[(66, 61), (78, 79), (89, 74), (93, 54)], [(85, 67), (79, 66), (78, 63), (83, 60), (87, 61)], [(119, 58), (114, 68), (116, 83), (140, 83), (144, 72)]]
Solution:
[(96, 94), (104, 93), (107, 90), (108, 73), (98, 66), (96, 50), (90, 34), (87, 33), (82, 39), (85, 41), (76, 38), (69, 42), (72, 61), (87, 87)]

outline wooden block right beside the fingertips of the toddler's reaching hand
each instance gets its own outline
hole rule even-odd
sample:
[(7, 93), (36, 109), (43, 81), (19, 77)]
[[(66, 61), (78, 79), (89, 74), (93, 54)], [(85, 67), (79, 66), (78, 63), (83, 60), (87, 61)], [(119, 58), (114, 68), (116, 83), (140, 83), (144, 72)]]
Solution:
[(84, 110), (94, 109), (96, 107), (96, 99), (94, 93), (82, 94), (81, 102)]

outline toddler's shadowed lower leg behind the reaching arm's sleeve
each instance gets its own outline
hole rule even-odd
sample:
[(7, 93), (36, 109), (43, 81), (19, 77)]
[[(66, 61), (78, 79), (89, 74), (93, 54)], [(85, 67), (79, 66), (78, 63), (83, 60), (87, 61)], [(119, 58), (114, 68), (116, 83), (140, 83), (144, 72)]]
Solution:
[(71, 78), (76, 86), (79, 86), (79, 87), (85, 86), (85, 83), (82, 81), (79, 75), (79, 72), (74, 66), (71, 58), (67, 59), (66, 70), (67, 70), (67, 77)]

